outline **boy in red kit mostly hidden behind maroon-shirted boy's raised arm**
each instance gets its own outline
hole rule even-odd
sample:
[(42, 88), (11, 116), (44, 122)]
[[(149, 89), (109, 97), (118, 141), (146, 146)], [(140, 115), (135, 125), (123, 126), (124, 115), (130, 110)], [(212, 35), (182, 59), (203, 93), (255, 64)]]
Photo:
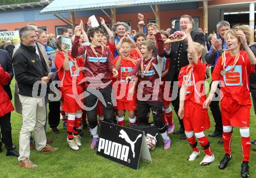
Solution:
[[(160, 31), (161, 37), (163, 39), (163, 42), (165, 42), (168, 39), (168, 33), (166, 31)], [(165, 43), (165, 45), (170, 45), (170, 43)], [(163, 57), (163, 70), (162, 70), (162, 92), (165, 92), (165, 81), (166, 81), (166, 74), (168, 73), (170, 60), (169, 58), (166, 59), (166, 57)], [(171, 90), (170, 90), (171, 92)], [(168, 97), (170, 97), (171, 93), (168, 93)], [(172, 108), (170, 108), (170, 101), (165, 100), (165, 97), (163, 97), (163, 121), (165, 121), (165, 124), (168, 124), (167, 133), (171, 134), (173, 133), (175, 129), (175, 125), (173, 124), (172, 119)]]

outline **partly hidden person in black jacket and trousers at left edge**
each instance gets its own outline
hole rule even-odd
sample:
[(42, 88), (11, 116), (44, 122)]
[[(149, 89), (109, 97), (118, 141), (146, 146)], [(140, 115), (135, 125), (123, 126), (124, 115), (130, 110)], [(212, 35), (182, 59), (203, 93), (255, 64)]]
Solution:
[[(9, 53), (6, 50), (0, 49), (0, 66), (8, 72), (10, 77), (13, 78), (13, 69), (12, 69), (12, 63), (10, 61)], [(10, 83), (7, 85), (3, 85), (3, 89), (8, 94), (10, 100), (12, 100), (12, 91), (10, 90)], [(6, 114), (6, 118), (3, 119), (5, 122), (1, 122), (1, 133), (2, 133), (2, 139), (0, 135), (0, 139), (3, 143), (5, 143), (5, 147), (8, 150), (6, 153), (7, 156), (15, 156), (19, 157), (19, 152), (13, 149), (12, 144), (12, 126), (10, 123), (10, 113)], [(2, 142), (0, 141), (0, 152), (2, 151)]]

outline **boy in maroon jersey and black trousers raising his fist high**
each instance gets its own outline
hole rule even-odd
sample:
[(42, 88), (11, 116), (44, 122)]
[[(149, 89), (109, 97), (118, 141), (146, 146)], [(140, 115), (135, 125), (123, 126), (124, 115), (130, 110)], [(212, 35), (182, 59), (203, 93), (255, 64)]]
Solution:
[[(160, 86), (164, 55), (163, 39), (160, 32), (158, 32), (158, 28), (155, 26), (152, 28), (154, 28), (154, 35), (158, 44), (158, 56), (154, 57), (154, 52), (156, 51), (155, 42), (145, 41), (141, 48), (143, 59), (137, 61), (133, 71), (129, 73), (129, 77), (126, 77), (126, 81), (134, 80), (134, 76), (138, 72), (138, 121), (142, 124), (146, 123), (148, 111), (151, 109), (154, 124), (158, 126), (163, 138), (163, 150), (168, 150), (171, 140), (166, 132), (167, 126), (162, 120), (163, 93)], [(144, 86), (145, 84), (146, 86)]]

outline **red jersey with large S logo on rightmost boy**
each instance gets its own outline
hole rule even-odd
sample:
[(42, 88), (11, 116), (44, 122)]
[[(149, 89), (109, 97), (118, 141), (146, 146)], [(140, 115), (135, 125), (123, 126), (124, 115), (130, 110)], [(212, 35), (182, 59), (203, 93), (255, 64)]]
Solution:
[[(239, 54), (237, 63), (233, 67), (236, 56), (230, 56), (229, 50), (226, 50), (216, 63), (212, 73), (212, 81), (225, 83), (225, 86), (221, 87), (224, 97), (225, 95), (232, 96), (238, 104), (251, 107), (249, 77), (252, 72), (255, 72), (254, 65), (251, 64), (246, 51), (240, 50)], [(226, 73), (222, 76), (224, 57), (226, 57)]]

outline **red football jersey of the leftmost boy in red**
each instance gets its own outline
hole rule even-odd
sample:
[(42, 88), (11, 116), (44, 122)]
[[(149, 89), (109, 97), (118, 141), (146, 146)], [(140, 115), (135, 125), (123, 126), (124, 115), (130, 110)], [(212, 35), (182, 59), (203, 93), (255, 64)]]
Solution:
[[(65, 71), (62, 66), (65, 60), (64, 54), (62, 52), (57, 52), (55, 57), (55, 66), (56, 70), (58, 71), (58, 78), (63, 83), (63, 88), (70, 88), (72, 87), (72, 82), (79, 83), (82, 79), (84, 79), (84, 74), (82, 70), (79, 70), (79, 74), (76, 73), (77, 67), (74, 64), (73, 60), (76, 60), (78, 67), (84, 66), (84, 60), (82, 57), (73, 58), (71, 57), (71, 53), (69, 55), (69, 71)], [(77, 77), (76, 80), (73, 81), (73, 77)]]

